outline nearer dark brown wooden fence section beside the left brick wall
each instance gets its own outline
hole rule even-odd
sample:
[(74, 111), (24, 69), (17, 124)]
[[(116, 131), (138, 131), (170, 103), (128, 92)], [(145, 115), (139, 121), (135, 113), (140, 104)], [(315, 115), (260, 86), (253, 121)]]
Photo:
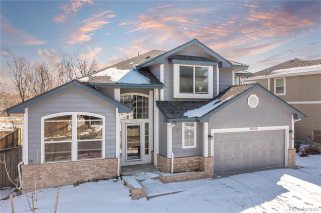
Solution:
[[(7, 161), (6, 165), (10, 178), (14, 182), (17, 182), (19, 180), (18, 164), (22, 161), (22, 145), (0, 149), (0, 160), (4, 161), (4, 159)], [(4, 163), (0, 163), (0, 171), (0, 189), (3, 187), (14, 186), (8, 178)]]

